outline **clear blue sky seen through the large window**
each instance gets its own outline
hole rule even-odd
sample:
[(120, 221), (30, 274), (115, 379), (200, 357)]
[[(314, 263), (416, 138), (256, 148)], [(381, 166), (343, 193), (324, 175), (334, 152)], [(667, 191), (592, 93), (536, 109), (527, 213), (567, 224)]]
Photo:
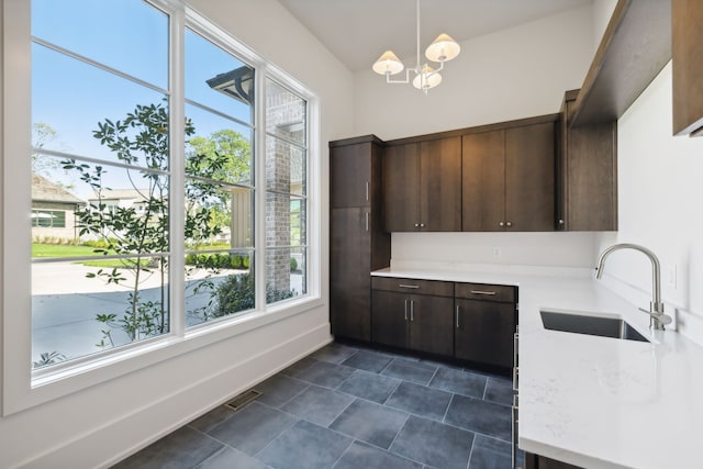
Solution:
[[(168, 89), (168, 16), (141, 0), (33, 0), (32, 34), (105, 66)], [(186, 96), (220, 112), (249, 121), (249, 108), (210, 89), (207, 79), (243, 64), (196, 33), (186, 35)], [(161, 102), (165, 94), (40, 44), (32, 45), (32, 121), (51, 125), (57, 137), (45, 147), (114, 161), (92, 137), (97, 123), (121, 120), (136, 104)], [(187, 107), (197, 135), (249, 130)], [(126, 180), (111, 171), (113, 188)], [(64, 175), (55, 179), (67, 181)], [(85, 196), (77, 189), (79, 197)]]

